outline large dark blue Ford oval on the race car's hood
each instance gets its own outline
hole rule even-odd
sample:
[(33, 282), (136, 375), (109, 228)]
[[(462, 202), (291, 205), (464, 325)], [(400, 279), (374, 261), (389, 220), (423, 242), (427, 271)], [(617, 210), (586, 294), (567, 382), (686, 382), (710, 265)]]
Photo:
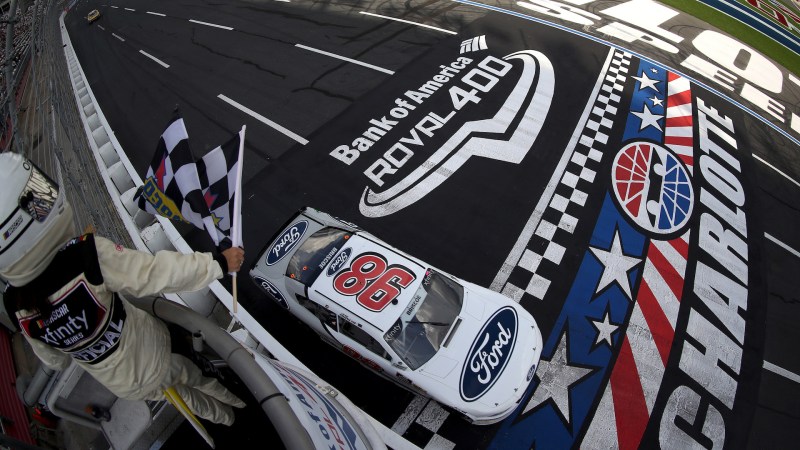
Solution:
[(517, 341), (517, 312), (506, 306), (486, 322), (467, 353), (461, 370), (460, 393), (473, 402), (494, 386), (506, 368)]

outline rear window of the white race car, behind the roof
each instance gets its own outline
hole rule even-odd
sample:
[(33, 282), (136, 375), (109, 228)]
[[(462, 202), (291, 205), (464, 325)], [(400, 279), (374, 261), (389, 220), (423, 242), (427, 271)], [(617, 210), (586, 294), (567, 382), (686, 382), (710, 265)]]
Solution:
[(310, 286), (350, 236), (352, 233), (333, 227), (318, 230), (292, 255), (286, 276)]

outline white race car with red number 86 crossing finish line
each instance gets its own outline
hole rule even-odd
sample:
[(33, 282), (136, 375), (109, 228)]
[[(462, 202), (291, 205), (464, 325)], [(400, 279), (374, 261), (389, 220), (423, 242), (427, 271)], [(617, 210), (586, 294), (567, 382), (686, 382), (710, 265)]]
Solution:
[(541, 356), (539, 327), (517, 303), (310, 208), (250, 276), (326, 342), (475, 424), (514, 411)]

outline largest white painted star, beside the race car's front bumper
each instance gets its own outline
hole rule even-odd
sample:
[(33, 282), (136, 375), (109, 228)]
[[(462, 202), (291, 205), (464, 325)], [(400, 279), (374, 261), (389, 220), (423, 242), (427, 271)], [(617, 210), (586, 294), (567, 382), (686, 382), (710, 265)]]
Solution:
[(536, 377), (540, 381), (539, 386), (536, 387), (536, 391), (525, 405), (522, 413), (525, 414), (547, 400), (552, 400), (567, 423), (571, 423), (569, 389), (591, 372), (592, 369), (574, 367), (567, 363), (567, 333), (564, 332), (553, 358), (550, 361), (539, 361), (539, 367), (536, 368)]

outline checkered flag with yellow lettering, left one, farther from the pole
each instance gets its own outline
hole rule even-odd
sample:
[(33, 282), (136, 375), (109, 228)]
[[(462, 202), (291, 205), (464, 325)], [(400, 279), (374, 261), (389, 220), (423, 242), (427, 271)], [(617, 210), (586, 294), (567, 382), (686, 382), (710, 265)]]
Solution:
[(189, 149), (183, 119), (176, 115), (161, 135), (142, 187), (134, 197), (139, 208), (208, 230), (215, 245), (218, 233), (203, 198), (197, 164)]

